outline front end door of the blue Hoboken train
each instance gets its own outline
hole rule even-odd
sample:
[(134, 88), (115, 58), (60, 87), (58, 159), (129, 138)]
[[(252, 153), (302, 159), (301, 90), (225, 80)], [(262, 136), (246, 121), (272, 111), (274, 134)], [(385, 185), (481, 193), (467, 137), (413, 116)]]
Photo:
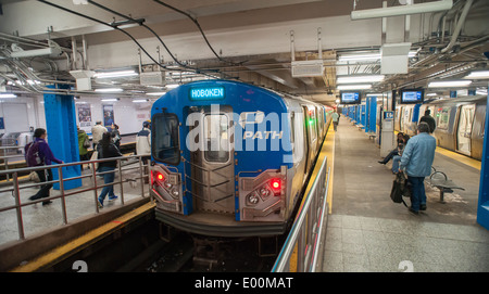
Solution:
[[(198, 133), (190, 144), (190, 175), (193, 207), (197, 210), (234, 214), (233, 110), (220, 106), (190, 107), (197, 122), (189, 131)], [(198, 128), (198, 129), (196, 129)], [(188, 174), (188, 171), (186, 171)]]

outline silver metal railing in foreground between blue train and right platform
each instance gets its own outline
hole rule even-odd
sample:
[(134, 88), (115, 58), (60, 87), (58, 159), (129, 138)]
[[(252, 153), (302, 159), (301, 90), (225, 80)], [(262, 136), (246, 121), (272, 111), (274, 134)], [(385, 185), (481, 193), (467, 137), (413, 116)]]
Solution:
[[(298, 216), (275, 260), (272, 272), (316, 271), (318, 257), (322, 256), (319, 244), (324, 238), (323, 228), (327, 218), (326, 196), (330, 170), (326, 172), (326, 166), (327, 158), (323, 161), (317, 177), (299, 208)], [(291, 263), (294, 252), (297, 252), (297, 265)]]

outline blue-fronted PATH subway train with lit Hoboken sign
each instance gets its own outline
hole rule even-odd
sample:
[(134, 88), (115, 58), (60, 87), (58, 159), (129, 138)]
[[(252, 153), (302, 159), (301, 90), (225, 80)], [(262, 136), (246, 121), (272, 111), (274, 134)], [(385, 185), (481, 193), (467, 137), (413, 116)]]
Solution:
[(285, 233), (331, 112), (239, 81), (168, 91), (151, 110), (156, 219), (208, 237)]

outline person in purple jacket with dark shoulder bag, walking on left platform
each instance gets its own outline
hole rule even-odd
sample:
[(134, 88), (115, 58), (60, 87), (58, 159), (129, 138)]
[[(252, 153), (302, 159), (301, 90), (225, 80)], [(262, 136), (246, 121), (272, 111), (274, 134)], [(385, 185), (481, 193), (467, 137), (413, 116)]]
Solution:
[[(30, 145), (26, 145), (25, 157), (28, 166), (41, 166), (41, 165), (51, 165), (51, 162), (57, 164), (63, 164), (63, 161), (58, 159), (52, 154), (51, 149), (46, 142), (46, 138), (48, 137), (48, 132), (46, 129), (38, 128), (34, 131), (34, 142)], [(37, 155), (36, 155), (37, 153)], [(37, 164), (33, 164), (33, 157), (37, 157)], [(52, 170), (51, 168), (36, 170), (37, 176), (39, 177), (40, 182), (52, 181)], [(48, 177), (46, 177), (46, 175)], [(49, 197), (49, 191), (52, 188), (52, 183), (42, 184), (39, 191), (29, 197), (30, 201), (35, 201), (38, 199)], [(50, 204), (51, 201), (43, 201), (42, 205)]]

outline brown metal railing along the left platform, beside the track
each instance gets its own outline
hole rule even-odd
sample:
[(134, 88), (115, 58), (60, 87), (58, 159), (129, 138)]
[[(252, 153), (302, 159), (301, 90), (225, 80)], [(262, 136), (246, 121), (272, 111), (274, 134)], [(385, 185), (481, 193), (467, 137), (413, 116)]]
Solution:
[[(25, 230), (24, 230), (24, 220), (23, 220), (23, 208), (26, 206), (30, 206), (30, 205), (35, 205), (39, 202), (47, 202), (47, 201), (52, 201), (52, 200), (61, 200), (61, 205), (62, 205), (62, 218), (63, 218), (63, 223), (67, 225), (68, 223), (68, 218), (67, 218), (67, 213), (66, 213), (66, 199), (68, 196), (73, 196), (76, 194), (80, 194), (87, 191), (93, 191), (93, 207), (95, 207), (95, 212), (97, 214), (100, 213), (99, 209), (99, 205), (98, 205), (98, 189), (102, 189), (104, 187), (108, 186), (115, 186), (115, 184), (120, 184), (120, 201), (121, 204), (124, 205), (124, 186), (123, 183), (126, 182), (134, 182), (134, 181), (138, 181), (140, 182), (140, 194), (141, 197), (145, 197), (145, 178), (149, 179), (149, 175), (145, 174), (145, 170), (148, 170), (146, 167), (148, 166), (147, 164), (145, 164), (142, 162), (142, 155), (130, 155), (130, 156), (121, 156), (121, 157), (112, 157), (112, 158), (106, 158), (106, 159), (97, 159), (97, 161), (87, 161), (87, 162), (76, 162), (76, 163), (66, 163), (66, 164), (60, 164), (60, 165), (49, 165), (49, 166), (37, 166), (37, 167), (26, 167), (26, 168), (16, 168), (16, 169), (10, 169), (10, 170), (1, 170), (0, 171), (0, 177), (2, 176), (7, 176), (9, 178), (9, 176), (11, 176), (11, 180), (7, 181), (7, 187), (0, 188), (0, 193), (4, 193), (3, 195), (7, 195), (5, 192), (11, 192), (12, 196), (14, 197), (15, 204), (14, 205), (9, 205), (5, 207), (0, 207), (0, 214), (4, 213), (4, 212), (9, 212), (9, 210), (15, 210), (16, 212), (16, 218), (17, 218), (17, 229), (18, 229), (18, 239), (20, 240), (24, 240), (25, 239)], [(104, 172), (99, 172), (97, 171), (96, 166), (100, 163), (104, 163), (104, 162), (117, 162), (117, 167), (114, 168), (114, 170), (110, 170), (110, 171), (104, 171)], [(124, 164), (123, 164), (124, 162)], [(67, 168), (67, 167), (73, 167), (73, 166), (78, 166), (78, 165), (89, 165), (91, 172), (90, 174), (83, 174), (80, 176), (76, 176), (76, 177), (63, 177), (63, 168)], [(133, 166), (134, 164), (136, 164), (135, 166)], [(123, 166), (124, 165), (124, 166)], [(57, 180), (51, 180), (51, 181), (45, 181), (45, 182), (27, 182), (27, 183), (22, 183), (20, 181), (20, 175), (28, 175), (32, 171), (36, 171), (36, 170), (43, 170), (43, 169), (54, 169), (52, 170), (53, 174), (55, 171), (58, 171), (58, 179)], [(126, 172), (128, 170), (135, 170), (137, 169), (138, 171), (136, 172), (136, 177), (133, 178), (123, 178), (123, 172)], [(97, 179), (98, 176), (103, 176), (104, 174), (109, 174), (109, 172), (115, 172), (114, 175), (114, 181), (111, 183), (103, 183), (103, 179)], [(117, 176), (118, 176), (118, 180), (117, 180)], [(71, 181), (71, 180), (76, 180), (76, 179), (84, 179), (84, 178), (91, 178), (91, 184), (88, 188), (84, 188), (82, 186), (80, 189), (73, 189), (72, 191), (66, 191), (64, 189), (65, 182), (66, 181)], [(100, 181), (102, 181), (102, 184), (100, 183)], [(22, 190), (24, 189), (28, 189), (28, 188), (36, 188), (40, 186), (45, 186), (45, 184), (49, 184), (49, 183), (59, 183), (59, 190), (60, 190), (60, 194), (59, 195), (53, 195), (53, 196), (49, 196), (49, 197), (42, 197), (42, 199), (38, 199), (38, 200), (34, 200), (34, 201), (29, 201), (26, 203), (23, 203), (21, 201), (21, 194), (22, 194)], [(3, 184), (5, 186), (5, 184)], [(0, 194), (1, 195), (1, 194)], [(149, 195), (149, 192), (148, 192)]]

